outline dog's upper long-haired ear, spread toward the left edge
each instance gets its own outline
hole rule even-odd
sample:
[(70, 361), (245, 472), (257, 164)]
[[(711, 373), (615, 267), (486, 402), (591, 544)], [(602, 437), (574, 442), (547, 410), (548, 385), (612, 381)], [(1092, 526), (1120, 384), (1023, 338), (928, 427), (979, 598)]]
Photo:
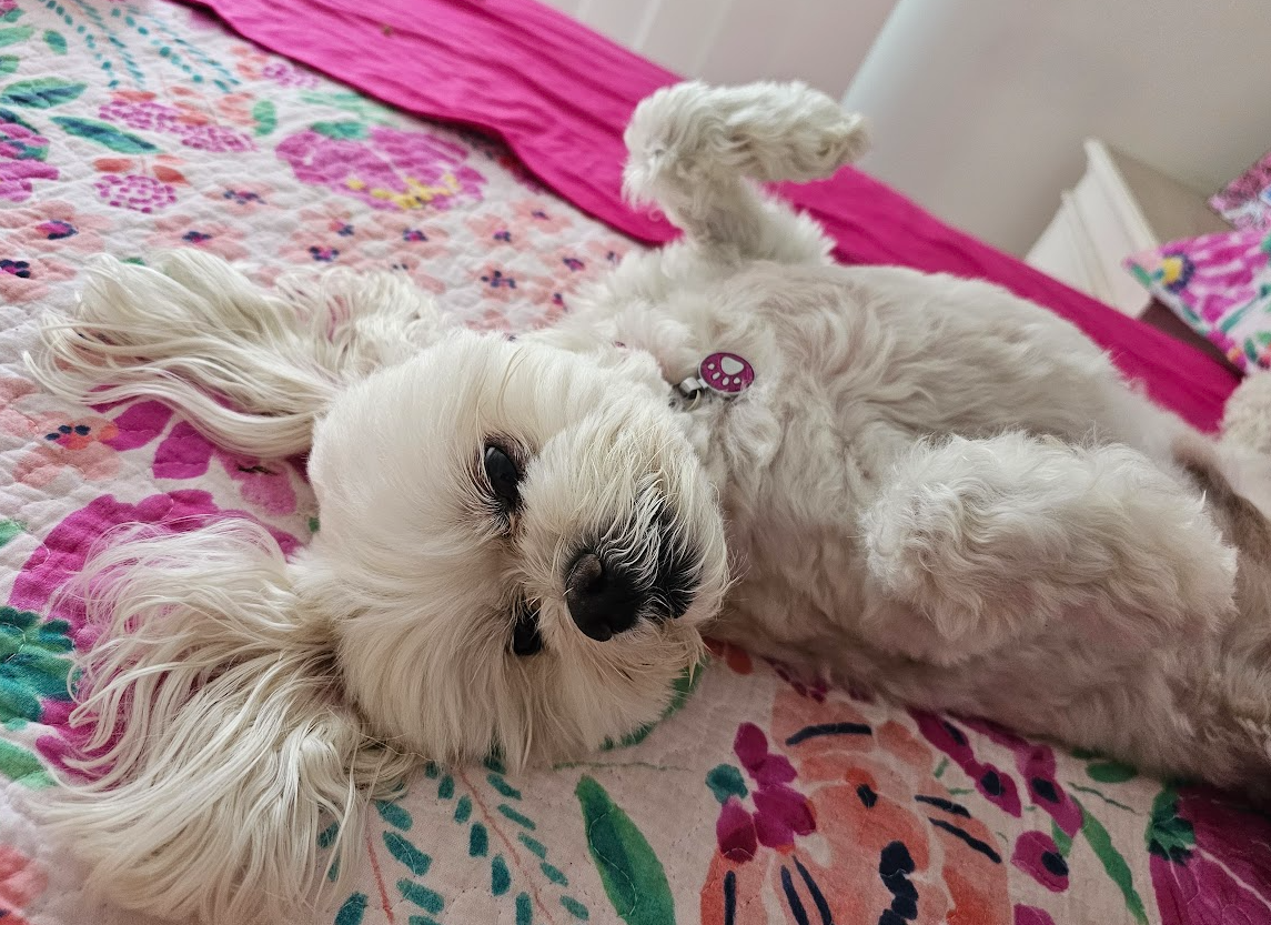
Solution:
[(332, 269), (268, 292), (217, 257), (175, 250), (153, 267), (100, 258), (76, 318), (47, 320), (25, 360), (70, 400), (156, 398), (220, 446), (281, 457), (309, 447), (342, 388), (449, 327), (402, 273)]

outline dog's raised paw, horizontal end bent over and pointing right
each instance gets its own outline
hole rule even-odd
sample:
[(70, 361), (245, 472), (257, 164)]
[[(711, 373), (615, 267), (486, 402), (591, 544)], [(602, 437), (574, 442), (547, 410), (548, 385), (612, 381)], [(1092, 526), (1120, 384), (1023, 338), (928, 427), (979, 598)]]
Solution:
[(649, 197), (655, 179), (717, 172), (761, 182), (829, 177), (868, 147), (866, 121), (802, 83), (709, 86), (688, 81), (644, 99), (627, 127), (624, 188)]

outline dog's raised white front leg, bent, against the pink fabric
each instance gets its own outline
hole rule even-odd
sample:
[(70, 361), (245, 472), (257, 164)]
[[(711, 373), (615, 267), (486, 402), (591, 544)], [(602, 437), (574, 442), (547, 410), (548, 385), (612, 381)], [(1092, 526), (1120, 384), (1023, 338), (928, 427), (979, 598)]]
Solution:
[(627, 127), (623, 189), (724, 260), (822, 262), (811, 219), (752, 182), (812, 180), (859, 158), (864, 119), (805, 84), (714, 88), (691, 81), (644, 99)]

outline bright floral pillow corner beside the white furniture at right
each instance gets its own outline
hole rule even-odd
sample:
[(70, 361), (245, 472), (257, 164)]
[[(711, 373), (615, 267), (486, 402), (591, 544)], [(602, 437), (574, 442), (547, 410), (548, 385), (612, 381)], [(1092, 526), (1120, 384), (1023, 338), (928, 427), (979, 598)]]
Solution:
[(1173, 241), (1130, 257), (1126, 267), (1237, 367), (1271, 368), (1271, 233)]

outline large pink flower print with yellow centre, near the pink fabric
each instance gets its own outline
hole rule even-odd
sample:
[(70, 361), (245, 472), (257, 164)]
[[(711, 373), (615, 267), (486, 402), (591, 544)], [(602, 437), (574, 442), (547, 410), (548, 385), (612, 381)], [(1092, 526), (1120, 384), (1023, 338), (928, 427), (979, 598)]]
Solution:
[(375, 126), (366, 138), (304, 131), (285, 138), (278, 156), (296, 179), (325, 186), (384, 210), (447, 210), (480, 199), (486, 178), (464, 161), (468, 151), (428, 132)]

